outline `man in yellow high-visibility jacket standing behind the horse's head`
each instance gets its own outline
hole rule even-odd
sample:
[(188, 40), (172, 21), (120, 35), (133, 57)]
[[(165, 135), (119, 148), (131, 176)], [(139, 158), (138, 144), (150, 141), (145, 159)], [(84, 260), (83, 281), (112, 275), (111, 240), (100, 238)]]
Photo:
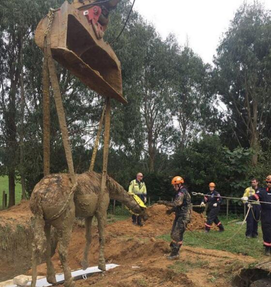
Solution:
[[(138, 172), (136, 174), (136, 179), (130, 182), (128, 192), (139, 196), (144, 203), (147, 202), (147, 189), (141, 172)], [(141, 223), (141, 216), (133, 214), (132, 221), (134, 225), (139, 225), (140, 227), (143, 226)]]

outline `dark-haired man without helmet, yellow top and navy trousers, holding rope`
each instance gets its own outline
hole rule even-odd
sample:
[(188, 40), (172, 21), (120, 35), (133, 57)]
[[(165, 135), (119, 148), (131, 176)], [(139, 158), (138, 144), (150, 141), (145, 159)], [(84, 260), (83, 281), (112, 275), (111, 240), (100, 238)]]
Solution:
[[(251, 180), (251, 186), (245, 189), (243, 197), (249, 197), (254, 195), (258, 191), (258, 180), (253, 178)], [(248, 202), (243, 201), (247, 206)], [(261, 206), (259, 202), (252, 202), (252, 207), (246, 218), (246, 238), (256, 238), (258, 236), (258, 220), (260, 218)]]

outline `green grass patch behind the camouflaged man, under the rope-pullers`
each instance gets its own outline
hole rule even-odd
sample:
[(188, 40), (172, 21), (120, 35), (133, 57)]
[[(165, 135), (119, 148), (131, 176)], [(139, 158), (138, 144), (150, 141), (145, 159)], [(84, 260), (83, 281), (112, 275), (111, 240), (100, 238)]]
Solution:
[[(184, 233), (184, 240), (183, 240), (184, 245), (208, 248), (214, 250), (229, 251), (232, 253), (249, 255), (255, 258), (263, 256), (263, 241), (262, 241), (262, 231), (260, 224), (258, 226), (258, 233), (259, 233), (258, 238), (247, 239), (245, 237), (245, 230), (246, 230), (246, 223), (245, 223), (241, 227), (241, 231), (239, 232), (239, 234), (235, 235), (231, 241), (223, 243), (228, 238), (232, 237), (237, 232), (237, 230), (240, 228), (241, 225), (236, 224), (236, 222), (227, 223), (228, 221), (226, 221), (226, 217), (223, 216), (220, 216), (220, 219), (225, 227), (224, 232), (220, 233), (218, 231), (211, 230), (209, 233), (204, 233), (203, 230), (193, 232), (186, 230)], [(197, 236), (213, 243), (212, 244), (207, 243), (198, 238)], [(171, 241), (169, 234), (159, 236), (159, 238), (164, 239), (168, 242)], [(221, 244), (215, 245), (218, 242), (221, 242)]]

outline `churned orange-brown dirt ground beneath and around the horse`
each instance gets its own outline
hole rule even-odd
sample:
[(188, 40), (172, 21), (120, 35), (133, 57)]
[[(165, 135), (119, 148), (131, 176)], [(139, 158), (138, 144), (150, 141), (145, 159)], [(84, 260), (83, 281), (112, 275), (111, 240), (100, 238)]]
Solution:
[[(150, 219), (144, 227), (132, 225), (131, 219), (107, 225), (105, 228), (105, 258), (107, 263), (119, 264), (120, 267), (103, 274), (94, 274), (87, 280), (78, 280), (76, 281), (76, 286), (228, 287), (230, 286), (229, 281), (232, 275), (245, 264), (255, 261), (252, 257), (224, 251), (189, 247), (185, 245), (185, 242), (181, 248), (181, 260), (168, 261), (166, 255), (169, 252), (169, 243), (157, 239), (157, 236), (170, 232), (174, 216), (167, 216), (165, 211), (166, 207), (162, 205), (152, 206), (149, 209)], [(25, 225), (27, 229), (30, 215), (28, 203), (22, 203), (9, 211), (1, 211), (0, 228), (7, 225), (16, 227), (20, 224), (22, 226)], [(203, 227), (204, 217), (193, 212), (193, 221), (190, 224), (190, 228), (195, 230)], [(97, 250), (99, 244), (97, 232), (97, 228), (93, 227), (89, 256), (90, 266), (95, 266), (98, 263)], [(16, 234), (14, 235), (16, 236)], [(11, 252), (11, 248), (7, 250), (9, 251), (8, 254), (10, 254), (10, 257), (8, 257), (7, 252), (0, 250), (0, 255), (5, 254), (4, 257), (1, 256), (0, 260), (0, 281), (7, 280), (19, 273), (31, 273), (31, 270), (22, 272), (22, 268), (19, 268), (19, 266), (24, 266), (25, 270), (25, 262), (30, 263), (30, 249), (28, 250), (28, 248), (30, 248), (31, 234), (25, 233), (25, 237), (29, 238), (29, 240), (27, 245), (23, 246), (25, 247), (24, 252)], [(22, 241), (22, 237), (20, 240)], [(25, 244), (24, 241), (22, 242)], [(85, 230), (79, 224), (75, 224), (69, 245), (69, 265), (71, 269), (81, 268), (80, 260), (83, 256), (84, 244)], [(15, 245), (12, 247), (13, 249), (16, 248)], [(20, 248), (22, 249), (22, 247)], [(53, 256), (53, 263), (56, 272), (62, 272), (58, 253)], [(45, 264), (39, 265), (38, 275), (45, 275), (45, 273)]]

